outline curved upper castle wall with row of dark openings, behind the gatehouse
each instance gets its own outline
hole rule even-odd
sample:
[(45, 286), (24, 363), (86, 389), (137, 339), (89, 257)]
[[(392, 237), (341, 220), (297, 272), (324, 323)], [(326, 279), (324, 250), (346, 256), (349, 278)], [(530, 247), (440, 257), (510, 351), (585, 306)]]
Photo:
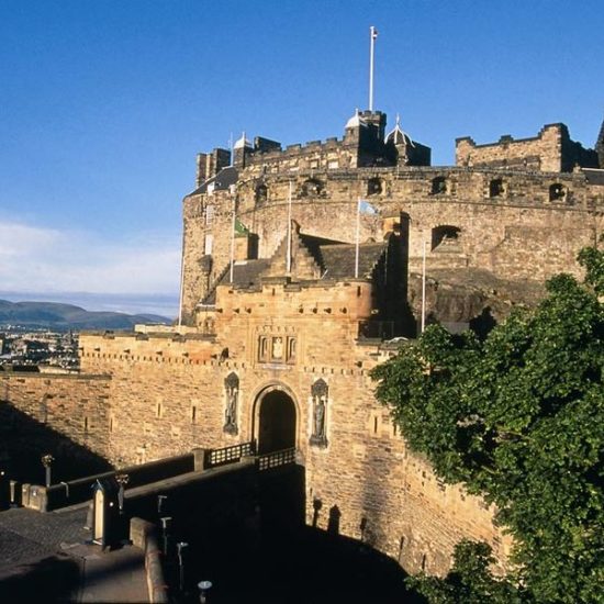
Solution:
[[(353, 243), (359, 197), (379, 210), (377, 215), (362, 216), (361, 242), (380, 241), (401, 214), (407, 215), (411, 270), (420, 266), (423, 243), (428, 242), (428, 271), (430, 266), (484, 268), (511, 280), (577, 273), (577, 253), (593, 244), (603, 226), (604, 187), (590, 186), (582, 172), (366, 168), (314, 171), (312, 177), (310, 172), (246, 175), (233, 193), (215, 191), (184, 199), (183, 306), (188, 321), (230, 262), (231, 243), (225, 234), (231, 231), (234, 204), (238, 220), (258, 236), (258, 257), (270, 257), (284, 234), (290, 180), (291, 215), (303, 233)], [(309, 191), (311, 179), (318, 190)], [(443, 188), (435, 192), (438, 181)], [(495, 195), (493, 181), (501, 181)], [(380, 192), (369, 194), (376, 182)], [(266, 197), (258, 200), (260, 184)], [(455, 254), (432, 249), (433, 231), (441, 225), (459, 230)], [(213, 242), (211, 257), (204, 255), (208, 236)]]

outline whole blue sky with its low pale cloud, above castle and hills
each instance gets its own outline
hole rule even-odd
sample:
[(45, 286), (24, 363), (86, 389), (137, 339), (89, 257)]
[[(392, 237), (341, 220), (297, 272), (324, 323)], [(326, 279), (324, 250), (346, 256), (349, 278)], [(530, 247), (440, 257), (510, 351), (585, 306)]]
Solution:
[(434, 164), (560, 121), (593, 146), (601, 0), (0, 0), (0, 297), (176, 300), (195, 154), (342, 136), (370, 25), (374, 105)]

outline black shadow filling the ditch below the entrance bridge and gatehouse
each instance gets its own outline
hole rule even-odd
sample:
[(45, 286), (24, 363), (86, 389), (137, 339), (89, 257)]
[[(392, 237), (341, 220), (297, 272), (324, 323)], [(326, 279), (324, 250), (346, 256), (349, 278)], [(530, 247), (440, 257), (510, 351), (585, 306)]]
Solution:
[[(232, 476), (228, 481), (236, 477)], [(253, 478), (249, 476), (248, 478)], [(238, 480), (244, 480), (241, 474)], [(191, 521), (191, 510), (180, 508), (178, 495), (170, 495), (170, 507), (163, 514), (174, 517), (174, 529), (168, 539), (168, 583), (177, 585), (178, 556), (176, 544), (188, 544), (184, 553), (184, 583), (191, 594), (182, 602), (199, 602), (195, 583), (212, 582), (209, 601), (213, 604), (404, 604), (425, 602), (405, 590), (406, 577), (401, 567), (358, 539), (339, 534), (340, 510), (327, 507), (315, 500), (315, 524), (327, 530), (304, 524), (305, 472), (301, 466), (260, 472), (256, 480), (242, 483), (238, 501), (256, 501), (255, 528), (242, 525), (238, 514), (223, 516), (222, 508), (212, 512), (212, 499), (235, 494), (234, 485), (216, 480), (210, 482), (198, 497), (187, 496), (189, 505), (197, 506), (199, 522)], [(199, 486), (202, 489), (202, 486)], [(254, 493), (245, 495), (245, 489)], [(221, 495), (222, 493), (222, 495)], [(175, 497), (175, 495), (177, 495)], [(168, 514), (169, 512), (169, 514)], [(245, 512), (245, 510), (239, 510)], [(186, 523), (179, 522), (184, 515)], [(205, 516), (205, 522), (203, 522)], [(163, 546), (164, 544), (161, 544)], [(171, 575), (170, 575), (171, 573)], [(195, 595), (197, 594), (197, 595)]]

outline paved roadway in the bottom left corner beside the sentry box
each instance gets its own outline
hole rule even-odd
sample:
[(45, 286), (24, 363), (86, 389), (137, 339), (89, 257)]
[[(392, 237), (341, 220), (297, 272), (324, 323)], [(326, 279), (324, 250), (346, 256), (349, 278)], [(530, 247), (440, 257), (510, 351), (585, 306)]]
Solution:
[(143, 552), (86, 545), (86, 512), (0, 512), (0, 602), (148, 602)]

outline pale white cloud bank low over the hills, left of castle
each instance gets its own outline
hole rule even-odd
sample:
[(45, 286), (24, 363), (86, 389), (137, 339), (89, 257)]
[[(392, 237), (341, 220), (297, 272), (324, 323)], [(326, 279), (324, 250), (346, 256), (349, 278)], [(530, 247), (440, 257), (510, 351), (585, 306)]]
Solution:
[(0, 290), (178, 293), (180, 239), (111, 242), (90, 232), (0, 220)]

